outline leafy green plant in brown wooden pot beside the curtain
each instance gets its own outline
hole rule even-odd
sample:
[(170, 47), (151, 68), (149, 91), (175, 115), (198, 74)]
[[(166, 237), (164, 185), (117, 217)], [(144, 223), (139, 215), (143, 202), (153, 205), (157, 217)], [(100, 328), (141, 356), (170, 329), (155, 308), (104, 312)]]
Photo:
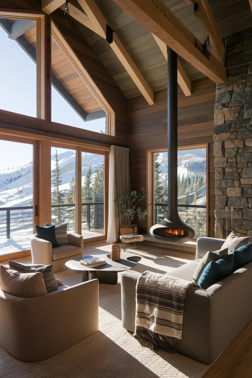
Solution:
[[(136, 191), (125, 193), (120, 197), (116, 197), (114, 202), (116, 202), (119, 207), (118, 216), (127, 216), (129, 219), (128, 225), (122, 225), (120, 227), (120, 234), (137, 235), (137, 225), (131, 225), (131, 222), (134, 220), (136, 215), (138, 216), (139, 220), (143, 220), (145, 216), (148, 215), (148, 195), (145, 189), (142, 188), (139, 193)], [(140, 202), (145, 204), (144, 209), (141, 209), (139, 206)]]

